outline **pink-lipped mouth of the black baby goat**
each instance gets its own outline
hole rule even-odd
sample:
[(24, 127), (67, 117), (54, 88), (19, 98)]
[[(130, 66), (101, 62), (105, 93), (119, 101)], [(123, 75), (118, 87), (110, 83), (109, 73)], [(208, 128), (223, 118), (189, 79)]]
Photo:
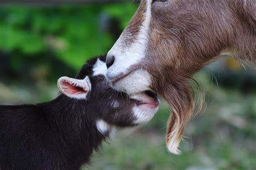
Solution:
[(136, 94), (132, 98), (136, 100), (136, 105), (138, 107), (144, 109), (157, 108), (160, 104), (157, 93), (151, 90)]

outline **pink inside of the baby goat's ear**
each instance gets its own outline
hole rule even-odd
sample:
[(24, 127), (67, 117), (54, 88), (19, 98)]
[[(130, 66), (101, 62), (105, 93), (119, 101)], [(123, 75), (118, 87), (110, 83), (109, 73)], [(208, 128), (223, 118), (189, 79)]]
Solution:
[(67, 94), (71, 94), (71, 95), (86, 94), (87, 92), (87, 90), (84, 89), (83, 87), (72, 85), (67, 81), (62, 81), (60, 85), (62, 86), (63, 91)]

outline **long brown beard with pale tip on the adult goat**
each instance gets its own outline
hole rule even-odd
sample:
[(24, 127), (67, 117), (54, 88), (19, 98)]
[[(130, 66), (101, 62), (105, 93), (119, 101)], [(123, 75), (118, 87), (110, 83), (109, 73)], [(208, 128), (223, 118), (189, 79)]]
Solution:
[[(166, 145), (169, 152), (179, 154), (178, 146), (184, 129), (193, 113), (201, 111), (204, 104), (204, 93), (201, 92), (199, 84), (193, 78), (177, 79), (176, 77), (175, 82), (169, 81), (162, 87), (165, 88), (161, 89), (159, 93), (172, 108), (167, 123)], [(198, 102), (196, 102), (195, 88), (198, 89)], [(197, 109), (195, 109), (196, 104)]]

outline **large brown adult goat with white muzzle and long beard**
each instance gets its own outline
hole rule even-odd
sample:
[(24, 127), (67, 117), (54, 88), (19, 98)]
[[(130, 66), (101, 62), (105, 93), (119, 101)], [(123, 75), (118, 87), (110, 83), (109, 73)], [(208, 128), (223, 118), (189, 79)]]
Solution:
[(117, 91), (164, 97), (172, 107), (166, 143), (178, 154), (195, 106), (191, 77), (224, 54), (255, 62), (255, 0), (142, 0), (107, 53), (106, 78)]

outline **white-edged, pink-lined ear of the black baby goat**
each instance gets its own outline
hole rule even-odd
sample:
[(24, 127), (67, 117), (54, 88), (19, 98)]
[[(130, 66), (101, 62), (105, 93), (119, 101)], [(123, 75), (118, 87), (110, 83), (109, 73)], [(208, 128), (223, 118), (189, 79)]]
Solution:
[(86, 99), (87, 94), (91, 91), (91, 82), (88, 76), (83, 80), (61, 77), (58, 80), (60, 92), (70, 98)]

